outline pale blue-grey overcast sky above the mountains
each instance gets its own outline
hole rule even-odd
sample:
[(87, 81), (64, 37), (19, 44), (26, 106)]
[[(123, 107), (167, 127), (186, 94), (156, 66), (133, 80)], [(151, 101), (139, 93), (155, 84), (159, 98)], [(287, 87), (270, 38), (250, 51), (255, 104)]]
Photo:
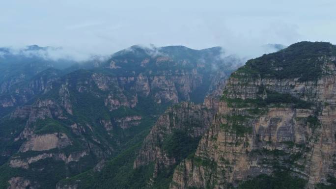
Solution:
[(336, 44), (336, 0), (0, 0), (0, 46), (111, 54), (135, 44)]

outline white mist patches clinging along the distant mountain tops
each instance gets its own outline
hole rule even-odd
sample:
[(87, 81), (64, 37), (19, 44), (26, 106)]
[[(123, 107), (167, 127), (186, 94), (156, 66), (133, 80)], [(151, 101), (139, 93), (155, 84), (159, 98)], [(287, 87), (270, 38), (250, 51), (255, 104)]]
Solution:
[[(165, 54), (162, 54), (160, 52), (161, 47), (157, 47), (153, 44), (148, 45), (137, 45), (138, 47), (145, 50), (145, 52), (151, 56), (165, 56)], [(277, 52), (286, 46), (281, 44), (265, 44), (263, 46), (254, 46), (249, 47), (251, 48), (249, 51), (246, 51), (244, 49), (229, 49), (226, 47), (222, 48), (222, 55), (221, 58), (228, 60), (227, 57), (232, 57), (232, 60), (239, 60), (238, 62), (231, 62), (233, 69), (235, 69), (238, 66), (241, 66), (246, 60), (250, 58), (254, 58), (257, 56), (260, 56), (262, 54), (268, 54), (268, 53), (274, 53)], [(5, 50), (5, 51), (4, 51)], [(124, 49), (125, 51), (133, 51), (132, 47)], [(244, 54), (245, 52), (245, 54)], [(89, 61), (92, 59), (99, 60), (99, 61), (105, 61), (109, 59), (113, 53), (111, 54), (94, 54), (94, 53), (86, 53), (81, 51), (76, 51), (72, 48), (63, 48), (63, 47), (40, 47), (38, 45), (30, 45), (30, 46), (24, 46), (24, 47), (5, 47), (2, 48), (2, 51), (0, 49), (0, 57), (4, 57), (6, 54), (12, 54), (12, 55), (21, 55), (25, 57), (38, 57), (43, 58), (45, 60), (53, 60), (53, 61), (59, 61), (59, 60), (71, 60), (71, 61), (77, 61), (77, 62), (84, 62)]]

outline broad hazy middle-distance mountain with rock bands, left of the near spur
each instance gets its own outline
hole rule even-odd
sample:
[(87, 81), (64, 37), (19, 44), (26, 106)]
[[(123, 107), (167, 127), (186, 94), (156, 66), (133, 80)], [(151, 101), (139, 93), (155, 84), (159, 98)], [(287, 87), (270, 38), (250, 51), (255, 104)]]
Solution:
[[(169, 105), (202, 100), (231, 72), (217, 56), (201, 63), (183, 54), (119, 56), (52, 78), (56, 69), (32, 76), (27, 86), (36, 86), (36, 95), (14, 93), (33, 95), (0, 119), (0, 188), (54, 188), (132, 147)], [(3, 98), (3, 104), (14, 97)]]

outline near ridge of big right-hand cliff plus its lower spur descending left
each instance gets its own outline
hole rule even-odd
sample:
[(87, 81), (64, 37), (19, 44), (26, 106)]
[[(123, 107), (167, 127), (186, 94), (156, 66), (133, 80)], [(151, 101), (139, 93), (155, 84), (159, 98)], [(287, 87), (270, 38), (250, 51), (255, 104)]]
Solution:
[[(298, 52), (307, 53), (300, 43), (295, 46)], [(266, 64), (264, 57), (249, 60), (222, 83), (217, 93), (223, 93), (221, 99), (206, 98), (204, 103), (210, 99), (218, 102), (217, 108), (201, 111), (216, 112), (210, 116), (211, 124), (183, 122), (202, 116), (194, 105), (178, 104), (161, 116), (142, 146), (137, 145), (136, 157), (121, 154), (100, 171), (62, 180), (57, 189), (332, 189), (336, 128), (328, 117), (334, 117), (335, 59), (333, 54), (313, 57), (316, 62), (312, 64), (321, 66), (323, 72), (308, 80), (300, 80), (300, 72), (294, 78), (286, 74), (282, 79), (262, 77), (250, 66), (255, 62)], [(271, 58), (268, 65), (277, 68), (283, 63), (279, 62), (272, 65)], [(195, 115), (197, 118), (193, 118)], [(187, 133), (190, 135), (205, 129), (196, 149), (195, 140), (183, 134), (186, 128), (191, 129)], [(181, 143), (181, 138), (186, 140)], [(126, 164), (120, 161), (129, 157)], [(128, 168), (122, 169), (124, 165)], [(110, 175), (114, 168), (125, 174)]]

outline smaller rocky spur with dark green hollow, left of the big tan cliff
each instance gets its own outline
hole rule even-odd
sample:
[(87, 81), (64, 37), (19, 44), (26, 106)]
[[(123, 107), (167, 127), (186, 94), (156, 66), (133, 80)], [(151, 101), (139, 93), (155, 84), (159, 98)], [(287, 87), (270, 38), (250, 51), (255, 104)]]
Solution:
[[(160, 116), (144, 139), (134, 169), (154, 164), (148, 187), (165, 187), (173, 168), (188, 155), (195, 153), (201, 136), (210, 126), (219, 99), (206, 98), (205, 103), (180, 103)], [(167, 178), (168, 177), (168, 178)]]

